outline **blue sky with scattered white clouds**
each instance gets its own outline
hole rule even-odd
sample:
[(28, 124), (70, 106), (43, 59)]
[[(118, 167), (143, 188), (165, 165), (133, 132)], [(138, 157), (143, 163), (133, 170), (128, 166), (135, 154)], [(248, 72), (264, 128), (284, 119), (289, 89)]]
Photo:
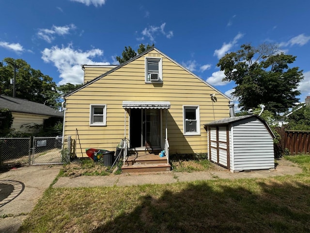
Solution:
[(275, 43), (297, 56), (301, 101), (310, 95), (306, 0), (0, 0), (0, 61), (23, 59), (58, 85), (82, 83), (80, 65), (118, 64), (125, 46), (155, 47), (221, 92), (216, 66), (242, 44)]

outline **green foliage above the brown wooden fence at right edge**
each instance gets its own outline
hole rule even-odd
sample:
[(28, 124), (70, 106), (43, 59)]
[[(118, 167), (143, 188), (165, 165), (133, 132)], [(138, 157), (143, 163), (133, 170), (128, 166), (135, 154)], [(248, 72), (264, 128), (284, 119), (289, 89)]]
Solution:
[(288, 130), (310, 131), (310, 106), (304, 106), (288, 116)]

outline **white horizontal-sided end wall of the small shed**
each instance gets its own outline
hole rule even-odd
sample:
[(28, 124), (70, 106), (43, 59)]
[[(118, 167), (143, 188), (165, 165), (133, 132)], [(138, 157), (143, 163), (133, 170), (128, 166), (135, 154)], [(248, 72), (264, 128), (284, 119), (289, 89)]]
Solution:
[(233, 170), (274, 168), (273, 139), (263, 122), (242, 120), (232, 128)]

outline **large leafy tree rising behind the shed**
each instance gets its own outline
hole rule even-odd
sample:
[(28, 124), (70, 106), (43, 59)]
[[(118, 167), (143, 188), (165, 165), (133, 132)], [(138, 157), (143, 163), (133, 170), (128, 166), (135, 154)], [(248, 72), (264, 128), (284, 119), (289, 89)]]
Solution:
[(303, 79), (302, 70), (288, 66), (295, 58), (279, 52), (273, 44), (258, 48), (247, 44), (227, 53), (217, 67), (225, 73), (223, 81), (235, 82), (232, 94), (238, 98), (241, 110), (263, 104), (273, 113), (283, 113), (299, 100), (296, 96), (300, 91), (296, 88)]

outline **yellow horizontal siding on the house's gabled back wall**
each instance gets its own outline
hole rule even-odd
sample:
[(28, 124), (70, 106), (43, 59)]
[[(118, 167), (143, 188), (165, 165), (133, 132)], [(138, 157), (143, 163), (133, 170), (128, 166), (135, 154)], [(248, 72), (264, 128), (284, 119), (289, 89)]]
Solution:
[[(145, 57), (162, 57), (163, 83), (145, 83)], [(85, 80), (93, 80), (104, 73), (98, 71), (97, 67), (85, 67)], [(216, 94), (217, 102), (212, 102), (210, 94)], [(229, 116), (229, 100), (226, 97), (152, 50), (66, 98), (65, 136), (71, 135), (74, 140), (77, 139), (77, 156), (82, 156), (81, 151), (86, 156), (87, 148), (115, 150), (116, 145), (124, 138), (124, 100), (170, 101), (167, 125), (172, 154), (206, 153), (207, 133), (203, 125)], [(89, 126), (90, 104), (107, 104), (107, 126)], [(183, 134), (183, 105), (200, 107), (200, 135)], [(165, 111), (162, 110), (163, 138)], [(126, 113), (126, 136), (128, 119)]]

